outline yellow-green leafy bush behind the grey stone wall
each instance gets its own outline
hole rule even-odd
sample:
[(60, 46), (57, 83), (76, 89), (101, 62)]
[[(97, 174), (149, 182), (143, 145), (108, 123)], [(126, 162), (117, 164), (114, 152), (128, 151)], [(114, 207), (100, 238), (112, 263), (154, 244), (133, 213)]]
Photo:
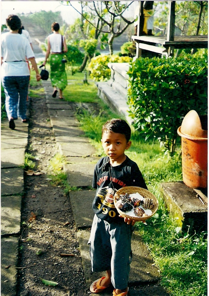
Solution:
[(88, 64), (90, 77), (95, 81), (107, 81), (110, 79), (111, 70), (108, 63), (130, 63), (132, 58), (120, 57), (118, 55), (98, 55), (91, 59)]

